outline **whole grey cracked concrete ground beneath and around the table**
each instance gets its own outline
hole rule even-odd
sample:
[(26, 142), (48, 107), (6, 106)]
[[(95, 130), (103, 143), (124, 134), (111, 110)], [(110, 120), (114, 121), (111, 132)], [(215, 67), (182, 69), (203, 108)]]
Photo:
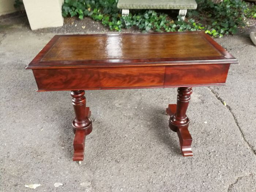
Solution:
[(193, 89), (193, 157), (181, 156), (168, 127), (165, 108), (176, 102), (176, 89), (97, 90), (86, 91), (93, 132), (79, 165), (72, 161), (69, 92), (37, 93), (25, 66), (56, 33), (108, 29), (85, 19), (91, 27), (31, 31), (26, 22), (0, 19), (1, 192), (256, 191), (256, 48), (249, 31), (215, 39), (240, 64), (231, 65), (227, 86)]

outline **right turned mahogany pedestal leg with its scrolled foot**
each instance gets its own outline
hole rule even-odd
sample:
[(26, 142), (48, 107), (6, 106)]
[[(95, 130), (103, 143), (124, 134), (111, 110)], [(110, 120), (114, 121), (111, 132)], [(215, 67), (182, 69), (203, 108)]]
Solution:
[(183, 156), (193, 156), (192, 137), (188, 131), (189, 119), (186, 115), (191, 94), (191, 87), (179, 87), (177, 105), (169, 104), (166, 108), (166, 113), (170, 115), (169, 127), (178, 134)]

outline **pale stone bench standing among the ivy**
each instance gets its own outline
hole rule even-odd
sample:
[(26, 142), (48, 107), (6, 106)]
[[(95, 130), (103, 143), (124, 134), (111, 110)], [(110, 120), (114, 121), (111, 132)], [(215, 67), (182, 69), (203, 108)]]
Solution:
[(188, 9), (196, 9), (195, 0), (119, 0), (117, 8), (122, 9), (122, 15), (129, 15), (129, 9), (176, 9), (180, 10), (181, 19), (185, 19)]

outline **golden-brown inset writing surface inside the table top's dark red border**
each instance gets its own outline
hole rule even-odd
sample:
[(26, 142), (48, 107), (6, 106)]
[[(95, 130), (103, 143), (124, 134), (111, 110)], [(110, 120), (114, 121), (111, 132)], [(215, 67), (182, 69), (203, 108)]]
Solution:
[[(140, 51), (138, 51), (140, 49)], [(63, 36), (43, 61), (222, 56), (197, 33)]]

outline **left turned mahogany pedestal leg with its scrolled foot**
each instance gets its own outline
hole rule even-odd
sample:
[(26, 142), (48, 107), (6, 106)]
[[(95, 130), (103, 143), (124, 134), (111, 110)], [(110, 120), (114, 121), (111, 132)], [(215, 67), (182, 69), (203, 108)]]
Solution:
[(89, 135), (93, 129), (90, 120), (90, 109), (86, 107), (86, 98), (84, 91), (71, 91), (72, 104), (75, 110), (75, 120), (73, 121), (74, 139), (74, 157), (73, 161), (83, 161), (84, 157), (84, 141), (86, 135)]

